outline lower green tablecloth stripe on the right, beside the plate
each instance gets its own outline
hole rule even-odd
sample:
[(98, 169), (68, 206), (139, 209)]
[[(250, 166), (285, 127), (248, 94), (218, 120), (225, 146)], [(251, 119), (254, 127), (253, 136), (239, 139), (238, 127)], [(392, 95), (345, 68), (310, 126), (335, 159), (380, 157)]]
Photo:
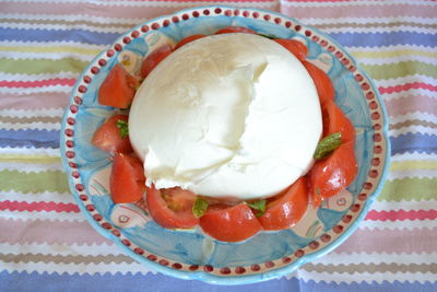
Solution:
[(378, 201), (437, 199), (437, 178), (402, 178), (386, 180)]

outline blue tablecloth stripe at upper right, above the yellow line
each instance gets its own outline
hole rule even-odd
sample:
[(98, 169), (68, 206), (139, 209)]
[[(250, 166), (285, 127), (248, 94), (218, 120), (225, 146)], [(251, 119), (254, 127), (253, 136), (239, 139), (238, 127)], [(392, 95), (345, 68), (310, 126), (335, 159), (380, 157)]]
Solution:
[(392, 32), (392, 33), (335, 33), (329, 34), (343, 46), (380, 47), (394, 45), (437, 46), (434, 34)]

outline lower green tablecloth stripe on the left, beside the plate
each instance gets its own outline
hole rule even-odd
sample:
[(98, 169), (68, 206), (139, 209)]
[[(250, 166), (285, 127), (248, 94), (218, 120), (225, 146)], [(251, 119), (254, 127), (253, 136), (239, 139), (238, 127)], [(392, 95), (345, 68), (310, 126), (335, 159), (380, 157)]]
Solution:
[(47, 171), (40, 173), (23, 173), (19, 171), (0, 172), (0, 190), (15, 190), (22, 192), (70, 190), (67, 175), (60, 171)]

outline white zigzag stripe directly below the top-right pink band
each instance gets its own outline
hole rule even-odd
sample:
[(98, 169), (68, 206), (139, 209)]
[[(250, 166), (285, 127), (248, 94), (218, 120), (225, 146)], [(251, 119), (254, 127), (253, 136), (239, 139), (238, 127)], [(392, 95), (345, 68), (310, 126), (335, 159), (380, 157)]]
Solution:
[[(410, 1), (411, 2), (411, 1)], [(331, 2), (332, 3), (332, 2)], [(351, 2), (349, 2), (351, 5)], [(305, 15), (299, 16), (299, 20), (312, 25), (323, 25), (323, 24), (338, 24), (338, 23), (393, 23), (393, 22), (415, 22), (417, 24), (436, 24), (435, 17), (418, 17), (418, 16), (389, 16), (389, 17), (335, 17), (335, 19), (324, 19), (324, 17), (305, 17)]]

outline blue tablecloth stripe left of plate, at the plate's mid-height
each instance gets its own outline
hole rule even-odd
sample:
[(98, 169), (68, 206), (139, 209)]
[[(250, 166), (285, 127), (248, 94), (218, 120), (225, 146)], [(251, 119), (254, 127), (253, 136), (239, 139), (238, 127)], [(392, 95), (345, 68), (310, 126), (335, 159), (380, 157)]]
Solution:
[(4, 130), (0, 129), (0, 148), (59, 148), (59, 131), (56, 130)]

